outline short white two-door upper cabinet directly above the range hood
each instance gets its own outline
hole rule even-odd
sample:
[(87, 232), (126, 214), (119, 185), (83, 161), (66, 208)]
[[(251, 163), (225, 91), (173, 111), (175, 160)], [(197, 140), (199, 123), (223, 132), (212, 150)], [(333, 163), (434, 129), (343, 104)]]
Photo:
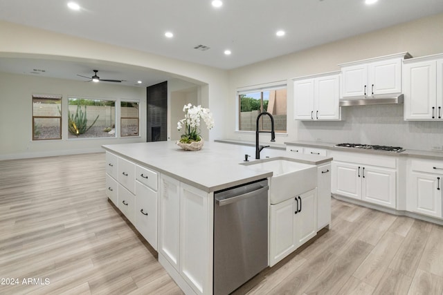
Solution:
[(399, 53), (339, 65), (342, 97), (401, 93), (401, 61), (409, 57)]

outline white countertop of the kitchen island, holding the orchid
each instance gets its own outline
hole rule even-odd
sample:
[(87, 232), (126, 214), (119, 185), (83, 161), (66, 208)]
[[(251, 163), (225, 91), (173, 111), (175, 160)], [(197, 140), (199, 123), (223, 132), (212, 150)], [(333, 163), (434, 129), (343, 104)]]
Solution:
[[(121, 155), (136, 164), (170, 175), (181, 182), (212, 192), (272, 175), (240, 164), (244, 155), (255, 161), (255, 146), (205, 142), (200, 151), (183, 151), (175, 142), (111, 144), (105, 150)], [(263, 149), (260, 158), (291, 158), (306, 164), (323, 164), (332, 160), (319, 155), (300, 155), (276, 149)]]

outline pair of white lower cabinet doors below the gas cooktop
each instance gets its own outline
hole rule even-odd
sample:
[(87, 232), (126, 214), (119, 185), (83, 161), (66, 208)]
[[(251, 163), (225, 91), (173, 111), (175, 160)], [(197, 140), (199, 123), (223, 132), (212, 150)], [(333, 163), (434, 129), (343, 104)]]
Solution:
[(332, 193), (395, 209), (396, 174), (395, 169), (333, 161)]

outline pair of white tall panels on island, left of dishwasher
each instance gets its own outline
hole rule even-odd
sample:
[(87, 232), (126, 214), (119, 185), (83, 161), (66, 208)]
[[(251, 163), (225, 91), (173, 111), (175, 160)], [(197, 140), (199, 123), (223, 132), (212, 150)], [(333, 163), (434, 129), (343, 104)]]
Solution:
[[(192, 289), (196, 294), (213, 292), (211, 197), (212, 193), (167, 175), (160, 177), (159, 256), (173, 267), (171, 276), (179, 286), (183, 290)], [(159, 260), (162, 263), (163, 259), (159, 257)]]

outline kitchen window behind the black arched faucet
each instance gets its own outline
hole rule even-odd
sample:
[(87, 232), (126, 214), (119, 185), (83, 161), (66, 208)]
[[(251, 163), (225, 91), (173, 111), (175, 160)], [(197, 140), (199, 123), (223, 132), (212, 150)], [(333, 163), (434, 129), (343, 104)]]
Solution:
[[(271, 113), (275, 132), (287, 130), (286, 86), (239, 92), (239, 131), (255, 131), (257, 116), (262, 112)], [(260, 130), (271, 130), (269, 117), (261, 117)]]

